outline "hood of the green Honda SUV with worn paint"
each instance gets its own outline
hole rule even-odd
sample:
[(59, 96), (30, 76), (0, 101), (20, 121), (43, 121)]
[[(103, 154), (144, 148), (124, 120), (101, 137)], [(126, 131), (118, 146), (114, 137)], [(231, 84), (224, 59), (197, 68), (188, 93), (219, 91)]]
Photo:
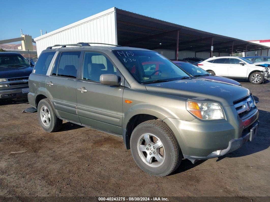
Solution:
[(233, 101), (250, 93), (247, 88), (241, 86), (201, 78), (145, 84), (145, 87), (147, 91), (153, 93), (194, 100), (216, 101), (222, 106), (231, 106)]

